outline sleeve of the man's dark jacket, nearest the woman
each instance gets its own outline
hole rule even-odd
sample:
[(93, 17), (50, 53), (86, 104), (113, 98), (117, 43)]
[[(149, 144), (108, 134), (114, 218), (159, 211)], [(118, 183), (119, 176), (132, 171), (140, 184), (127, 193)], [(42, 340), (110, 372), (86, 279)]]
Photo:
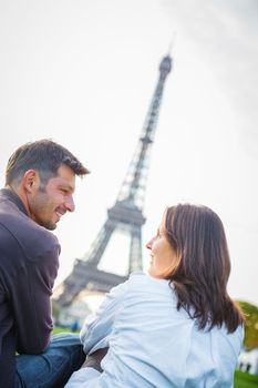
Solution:
[(12, 285), (17, 351), (20, 354), (40, 354), (49, 345), (53, 329), (51, 296), (59, 252), (58, 244), (45, 249), (41, 257), (20, 268), (20, 278)]

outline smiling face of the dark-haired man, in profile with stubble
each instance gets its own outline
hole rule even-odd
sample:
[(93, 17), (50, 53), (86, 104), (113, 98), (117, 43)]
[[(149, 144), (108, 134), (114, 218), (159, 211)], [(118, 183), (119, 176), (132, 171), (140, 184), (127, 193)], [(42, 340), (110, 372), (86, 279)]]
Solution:
[(28, 197), (30, 217), (47, 229), (53, 231), (61, 216), (73, 212), (75, 206), (73, 193), (75, 190), (75, 174), (66, 165), (62, 164), (58, 170), (58, 176), (50, 177), (40, 188), (40, 180), (33, 193)]

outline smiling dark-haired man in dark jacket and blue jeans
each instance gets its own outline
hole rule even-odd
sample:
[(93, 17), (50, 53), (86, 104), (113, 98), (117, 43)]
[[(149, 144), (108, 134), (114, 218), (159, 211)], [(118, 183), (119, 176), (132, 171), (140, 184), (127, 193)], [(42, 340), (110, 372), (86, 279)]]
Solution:
[[(75, 176), (87, 173), (70, 151), (51, 140), (27, 143), (8, 161), (6, 187), (0, 191), (2, 388), (59, 387), (60, 377), (66, 379), (83, 363), (75, 335), (54, 336), (49, 346), (50, 298), (60, 254), (49, 231), (74, 211)], [(42, 353), (43, 357), (34, 356)]]

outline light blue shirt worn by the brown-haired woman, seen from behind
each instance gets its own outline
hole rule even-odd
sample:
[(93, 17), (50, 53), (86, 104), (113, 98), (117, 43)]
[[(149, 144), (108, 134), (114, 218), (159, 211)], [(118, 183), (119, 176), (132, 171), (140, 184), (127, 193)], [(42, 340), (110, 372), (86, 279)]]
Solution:
[[(165, 279), (137, 273), (107, 294), (81, 330), (85, 354), (110, 347), (103, 372), (82, 368), (66, 388), (230, 388), (242, 327), (199, 330)], [(92, 375), (91, 375), (92, 372)]]

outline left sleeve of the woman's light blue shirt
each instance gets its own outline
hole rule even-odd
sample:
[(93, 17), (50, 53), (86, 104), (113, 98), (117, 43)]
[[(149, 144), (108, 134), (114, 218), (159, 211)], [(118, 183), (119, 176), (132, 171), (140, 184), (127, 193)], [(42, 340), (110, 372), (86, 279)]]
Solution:
[(80, 333), (85, 354), (109, 347), (110, 335), (113, 329), (115, 316), (122, 307), (124, 294), (127, 292), (128, 282), (114, 288), (106, 295), (96, 314), (86, 317)]

